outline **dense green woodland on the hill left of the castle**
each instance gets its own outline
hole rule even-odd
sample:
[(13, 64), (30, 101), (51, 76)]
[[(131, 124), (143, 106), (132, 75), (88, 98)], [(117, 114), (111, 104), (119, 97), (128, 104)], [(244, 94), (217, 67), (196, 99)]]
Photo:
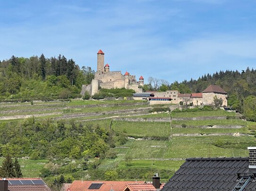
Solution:
[(94, 78), (91, 67), (79, 68), (64, 55), (45, 58), (12, 56), (0, 61), (0, 99), (66, 99), (79, 97), (82, 84)]

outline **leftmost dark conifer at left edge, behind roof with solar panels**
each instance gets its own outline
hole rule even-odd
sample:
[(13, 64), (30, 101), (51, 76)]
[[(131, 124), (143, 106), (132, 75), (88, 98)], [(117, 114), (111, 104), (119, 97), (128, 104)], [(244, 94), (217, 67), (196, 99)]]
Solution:
[(9, 155), (7, 155), (2, 162), (2, 166), (0, 167), (0, 176), (5, 178), (15, 177), (13, 161)]

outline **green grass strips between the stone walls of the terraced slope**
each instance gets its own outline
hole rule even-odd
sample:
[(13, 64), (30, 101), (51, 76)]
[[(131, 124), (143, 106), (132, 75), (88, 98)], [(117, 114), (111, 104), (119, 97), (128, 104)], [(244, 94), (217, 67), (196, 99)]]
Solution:
[[(118, 106), (122, 103), (137, 103), (140, 101), (85, 101), (77, 100), (71, 102), (34, 102), (33, 105), (30, 103), (12, 103), (12, 104), (1, 104), (0, 111), (12, 110), (12, 109), (41, 109), (41, 108), (57, 108), (58, 111), (63, 111), (66, 114), (78, 114), (85, 112), (99, 112), (104, 113), (107, 111), (116, 111), (121, 109), (148, 107), (147, 105), (140, 106)], [(93, 108), (72, 108), (64, 109), (64, 107), (82, 106), (82, 105), (93, 105), (93, 104), (115, 104), (115, 107), (93, 107)], [(18, 105), (18, 106), (17, 106)], [(156, 107), (156, 106), (155, 106)], [(43, 111), (41, 113), (47, 113)], [(19, 114), (26, 114), (26, 111), (20, 112)], [(190, 112), (190, 113), (172, 113), (172, 117), (198, 117), (198, 116), (233, 116), (235, 113), (228, 113), (225, 111), (204, 111), (204, 112)], [(3, 114), (0, 114), (3, 116)], [(60, 116), (60, 115), (55, 115)], [(97, 119), (100, 117), (113, 116), (113, 115), (100, 115), (92, 117), (78, 117), (76, 120), (83, 119)], [(47, 117), (38, 117), (37, 119), (45, 119)], [(54, 117), (51, 116), (51, 117)], [(133, 116), (134, 117), (134, 116)], [(138, 117), (170, 117), (168, 113), (141, 115)], [(17, 122), (21, 120), (3, 120), (4, 122)], [(1, 122), (3, 122), (1, 121)], [(87, 123), (98, 123), (100, 126), (109, 128), (111, 119), (97, 120)], [(195, 126), (194, 128), (178, 128), (173, 125), (186, 125)], [(241, 129), (203, 129), (198, 126), (201, 125), (245, 125)], [(172, 126), (170, 122), (123, 122), (113, 121), (112, 128), (116, 132), (125, 132), (128, 136), (136, 137), (171, 137), (174, 133), (252, 133), (256, 129), (256, 123), (246, 122), (242, 120), (196, 120), (196, 121), (173, 121)], [(228, 148), (220, 148), (216, 146), (216, 143), (221, 141), (228, 141), (231, 146)], [(159, 169), (171, 169), (176, 170), (183, 163), (185, 158), (189, 157), (217, 157), (217, 156), (247, 156), (248, 151), (246, 150), (246, 144), (253, 145), (255, 141), (254, 137), (242, 136), (198, 136), (198, 137), (173, 137), (171, 140), (129, 140), (122, 147), (113, 148), (118, 153), (116, 159), (105, 159), (99, 166), (99, 169), (111, 169), (111, 168), (126, 168), (125, 157), (132, 156), (134, 160), (131, 161), (130, 168), (150, 168), (157, 171)], [(117, 145), (118, 146), (118, 145)], [(174, 159), (174, 160), (173, 160)], [(23, 169), (24, 176), (35, 177), (39, 176), (40, 169), (44, 166), (48, 160), (25, 160), (20, 159), (20, 164)], [(171, 176), (171, 175), (170, 175)]]

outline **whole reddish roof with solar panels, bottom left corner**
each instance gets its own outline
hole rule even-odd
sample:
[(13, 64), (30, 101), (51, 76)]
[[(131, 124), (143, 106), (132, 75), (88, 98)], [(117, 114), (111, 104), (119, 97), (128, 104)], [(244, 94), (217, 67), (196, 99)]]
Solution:
[(51, 191), (41, 178), (6, 178), (8, 191)]

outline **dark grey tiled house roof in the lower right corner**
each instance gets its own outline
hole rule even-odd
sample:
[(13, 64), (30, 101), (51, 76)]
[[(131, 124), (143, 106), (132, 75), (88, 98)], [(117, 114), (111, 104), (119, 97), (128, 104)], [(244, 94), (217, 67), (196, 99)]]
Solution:
[[(246, 173), (248, 165), (248, 157), (190, 158), (161, 191), (231, 191), (239, 182), (237, 173)], [(244, 190), (256, 190), (256, 181)]]

